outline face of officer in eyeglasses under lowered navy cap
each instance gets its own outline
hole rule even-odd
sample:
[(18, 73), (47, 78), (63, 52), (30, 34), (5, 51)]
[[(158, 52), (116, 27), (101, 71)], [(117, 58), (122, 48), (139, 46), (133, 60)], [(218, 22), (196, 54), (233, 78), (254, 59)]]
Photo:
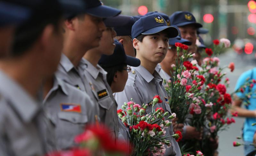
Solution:
[(126, 81), (128, 79), (128, 72), (127, 72), (126, 68), (127, 68), (127, 65), (124, 66), (124, 69), (122, 70), (122, 72), (120, 72), (120, 71), (116, 72), (116, 74), (114, 76), (114, 80), (111, 84), (111, 86), (114, 85), (111, 87), (114, 89), (113, 92), (121, 92), (124, 90)]

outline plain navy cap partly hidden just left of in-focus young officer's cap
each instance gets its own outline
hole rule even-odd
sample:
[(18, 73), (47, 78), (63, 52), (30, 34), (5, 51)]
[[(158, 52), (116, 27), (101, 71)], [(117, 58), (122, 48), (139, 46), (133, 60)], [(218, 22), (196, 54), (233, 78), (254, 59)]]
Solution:
[[(117, 15), (116, 17), (113, 17), (112, 19), (118, 18), (120, 15)], [(143, 15), (138, 15), (138, 16), (126, 16), (127, 18), (120, 17), (118, 21), (118, 24), (114, 25), (114, 30), (116, 31), (116, 36), (132, 36), (132, 25), (138, 21), (141, 17), (145, 17)], [(128, 19), (129, 17), (129, 19)], [(108, 20), (108, 18), (106, 18)], [(106, 23), (105, 23), (106, 24)], [(110, 24), (106, 24), (110, 25)]]

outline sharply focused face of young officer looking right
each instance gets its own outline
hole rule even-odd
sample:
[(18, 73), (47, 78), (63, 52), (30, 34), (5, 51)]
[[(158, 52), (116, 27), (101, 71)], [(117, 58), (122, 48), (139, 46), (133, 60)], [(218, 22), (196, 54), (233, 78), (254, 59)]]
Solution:
[(164, 60), (169, 46), (169, 38), (164, 32), (146, 35), (142, 42), (133, 39), (133, 47), (137, 51), (136, 57), (141, 61), (160, 63)]

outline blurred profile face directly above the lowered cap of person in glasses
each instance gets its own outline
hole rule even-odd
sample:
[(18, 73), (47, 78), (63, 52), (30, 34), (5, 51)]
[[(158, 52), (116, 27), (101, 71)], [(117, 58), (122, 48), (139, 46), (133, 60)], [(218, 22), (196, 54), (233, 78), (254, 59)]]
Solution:
[(113, 28), (108, 27), (103, 31), (100, 46), (98, 47), (101, 54), (112, 55), (114, 53), (116, 47), (114, 37), (116, 37), (116, 32)]

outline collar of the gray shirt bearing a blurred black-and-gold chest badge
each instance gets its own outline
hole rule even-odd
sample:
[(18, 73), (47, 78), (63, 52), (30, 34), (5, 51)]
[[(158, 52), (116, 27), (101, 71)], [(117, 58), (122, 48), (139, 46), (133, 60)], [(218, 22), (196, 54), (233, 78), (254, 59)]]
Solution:
[(85, 70), (88, 71), (94, 79), (96, 79), (99, 76), (99, 73), (101, 73), (103, 75), (107, 74), (107, 72), (102, 67), (100, 67), (100, 65), (98, 65), (98, 64), (97, 64), (97, 67), (94, 67), (91, 62), (89, 62), (88, 60), (86, 60), (84, 58), (82, 59), (81, 62), (87, 64), (87, 68), (85, 68)]

